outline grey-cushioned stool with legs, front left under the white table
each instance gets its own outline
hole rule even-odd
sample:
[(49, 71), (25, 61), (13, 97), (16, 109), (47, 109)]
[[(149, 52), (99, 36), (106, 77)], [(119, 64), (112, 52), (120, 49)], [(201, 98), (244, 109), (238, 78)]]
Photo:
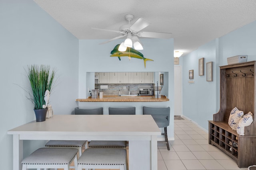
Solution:
[(64, 168), (70, 169), (70, 164), (74, 160), (74, 168), (77, 170), (77, 153), (74, 148), (40, 148), (24, 158), (21, 162), (22, 170), (31, 168)]

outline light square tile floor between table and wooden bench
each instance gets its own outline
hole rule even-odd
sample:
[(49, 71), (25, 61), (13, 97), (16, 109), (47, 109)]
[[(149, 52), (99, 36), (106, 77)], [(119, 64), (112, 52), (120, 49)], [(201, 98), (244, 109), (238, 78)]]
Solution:
[(208, 133), (187, 119), (174, 120), (174, 138), (170, 150), (158, 143), (158, 170), (247, 170), (209, 145)]

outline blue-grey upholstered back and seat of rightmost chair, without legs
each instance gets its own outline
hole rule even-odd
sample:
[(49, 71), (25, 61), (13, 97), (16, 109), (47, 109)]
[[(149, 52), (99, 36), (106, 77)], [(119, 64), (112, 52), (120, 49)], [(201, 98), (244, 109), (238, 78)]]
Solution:
[[(146, 107), (143, 106), (143, 114), (144, 115), (152, 115), (153, 119), (158, 123), (158, 121), (164, 120), (168, 121), (168, 125), (170, 124), (170, 107)], [(165, 124), (165, 123), (164, 123)]]

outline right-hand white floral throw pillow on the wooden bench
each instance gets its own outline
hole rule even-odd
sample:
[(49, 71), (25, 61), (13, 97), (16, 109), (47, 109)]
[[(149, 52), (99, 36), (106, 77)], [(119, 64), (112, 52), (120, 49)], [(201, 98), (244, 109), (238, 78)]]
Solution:
[(244, 135), (244, 127), (249, 126), (253, 122), (253, 114), (249, 111), (246, 115), (244, 115), (238, 122), (236, 127), (236, 132), (238, 135)]

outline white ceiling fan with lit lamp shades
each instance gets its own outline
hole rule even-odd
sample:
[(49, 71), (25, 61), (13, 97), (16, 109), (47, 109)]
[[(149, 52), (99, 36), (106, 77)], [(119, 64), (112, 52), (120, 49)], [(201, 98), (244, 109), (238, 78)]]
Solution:
[(143, 18), (139, 18), (134, 24), (131, 24), (130, 22), (132, 21), (133, 18), (134, 18), (134, 15), (132, 15), (132, 14), (125, 15), (125, 19), (128, 21), (128, 24), (122, 25), (119, 28), (119, 31), (114, 31), (114, 30), (110, 30), (110, 29), (100, 29), (100, 28), (92, 28), (92, 29), (98, 29), (98, 30), (103, 30), (103, 31), (112, 31), (112, 32), (122, 34), (122, 35), (114, 37), (108, 41), (100, 43), (100, 44), (105, 44), (110, 41), (127, 36), (126, 40), (123, 43), (121, 43), (121, 45), (119, 46), (119, 48), (118, 48), (119, 51), (126, 51), (126, 48), (132, 47), (132, 45), (134, 46), (134, 49), (142, 50), (143, 49), (142, 43), (140, 42), (138, 37), (164, 38), (164, 39), (171, 38), (172, 33), (141, 31), (142, 29), (144, 29), (145, 27), (150, 25), (150, 22)]

